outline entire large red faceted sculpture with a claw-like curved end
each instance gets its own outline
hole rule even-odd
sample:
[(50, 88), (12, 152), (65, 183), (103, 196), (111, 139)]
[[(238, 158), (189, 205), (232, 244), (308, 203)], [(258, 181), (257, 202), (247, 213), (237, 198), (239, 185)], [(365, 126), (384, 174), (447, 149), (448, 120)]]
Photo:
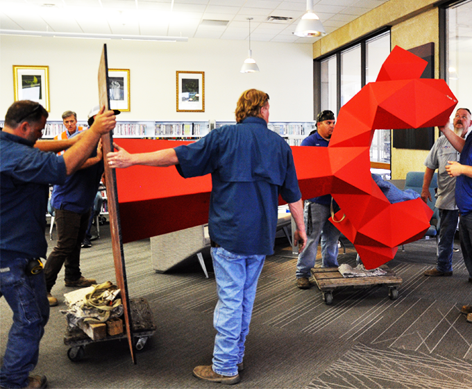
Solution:
[[(375, 83), (339, 111), (329, 147), (292, 147), (303, 199), (330, 193), (341, 207), (335, 225), (353, 242), (366, 269), (394, 258), (398, 245), (421, 238), (432, 210), (421, 199), (390, 204), (370, 173), (375, 129), (445, 124), (457, 99), (443, 80), (419, 78), (426, 61), (395, 47)], [(187, 142), (117, 139), (131, 153)], [(174, 167), (117, 169), (123, 242), (208, 222), (210, 176), (183, 179)], [(280, 200), (280, 204), (283, 202)], [(179, 245), (176, 242), (176, 245)]]

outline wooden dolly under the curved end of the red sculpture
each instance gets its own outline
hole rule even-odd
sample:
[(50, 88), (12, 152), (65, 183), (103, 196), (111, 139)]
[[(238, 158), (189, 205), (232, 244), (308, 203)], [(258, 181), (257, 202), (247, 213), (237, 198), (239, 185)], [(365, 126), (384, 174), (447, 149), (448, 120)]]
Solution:
[(314, 267), (312, 275), (319, 290), (323, 293), (323, 300), (327, 305), (332, 304), (332, 291), (346, 286), (355, 288), (369, 288), (373, 285), (385, 285), (389, 288), (389, 297), (392, 300), (398, 298), (398, 286), (403, 280), (397, 276), (387, 265), (380, 267), (387, 271), (384, 276), (351, 277), (344, 278), (337, 267)]

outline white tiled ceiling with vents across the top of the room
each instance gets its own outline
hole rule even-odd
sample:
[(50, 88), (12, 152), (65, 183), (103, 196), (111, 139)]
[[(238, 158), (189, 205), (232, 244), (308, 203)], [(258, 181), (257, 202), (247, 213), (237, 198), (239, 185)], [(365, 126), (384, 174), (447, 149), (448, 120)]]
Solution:
[[(56, 4), (42, 7), (44, 1)], [(328, 33), (387, 0), (313, 0)], [(171, 11), (171, 4), (174, 4)], [(0, 0), (3, 28), (132, 35), (182, 35), (246, 39), (252, 17), (253, 40), (292, 41), (306, 0)], [(119, 13), (119, 11), (122, 11)], [(292, 17), (269, 22), (270, 16)], [(228, 20), (223, 28), (200, 26), (202, 19)], [(110, 24), (108, 24), (108, 20)], [(241, 38), (242, 37), (242, 38)], [(303, 38), (295, 42), (308, 42)], [(313, 38), (314, 39), (314, 38)]]

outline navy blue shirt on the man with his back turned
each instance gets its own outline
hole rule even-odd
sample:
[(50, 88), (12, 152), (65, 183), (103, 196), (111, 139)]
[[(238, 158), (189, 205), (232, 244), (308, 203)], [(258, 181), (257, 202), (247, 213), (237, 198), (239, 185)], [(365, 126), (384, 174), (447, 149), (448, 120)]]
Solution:
[(248, 117), (175, 151), (181, 176), (212, 174), (210, 238), (235, 254), (273, 254), (278, 195), (301, 199), (287, 142), (264, 119)]

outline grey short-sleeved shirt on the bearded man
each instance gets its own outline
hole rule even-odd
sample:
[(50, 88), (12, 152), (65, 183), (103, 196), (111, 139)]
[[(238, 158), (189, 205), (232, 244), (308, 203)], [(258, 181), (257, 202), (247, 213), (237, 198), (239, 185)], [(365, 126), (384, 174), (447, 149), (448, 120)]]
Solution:
[(432, 170), (438, 169), (436, 207), (439, 209), (455, 210), (455, 177), (446, 171), (448, 160), (459, 160), (460, 153), (453, 147), (444, 135), (437, 138), (433, 144), (425, 166)]

